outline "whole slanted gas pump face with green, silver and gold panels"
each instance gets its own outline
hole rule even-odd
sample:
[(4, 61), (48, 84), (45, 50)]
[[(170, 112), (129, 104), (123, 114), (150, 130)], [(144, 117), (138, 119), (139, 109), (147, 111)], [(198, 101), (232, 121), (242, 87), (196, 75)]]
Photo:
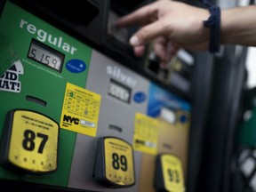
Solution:
[(143, 182), (154, 180), (158, 153), (177, 156), (185, 175), (187, 100), (15, 1), (1, 4), (0, 181), (154, 191)]

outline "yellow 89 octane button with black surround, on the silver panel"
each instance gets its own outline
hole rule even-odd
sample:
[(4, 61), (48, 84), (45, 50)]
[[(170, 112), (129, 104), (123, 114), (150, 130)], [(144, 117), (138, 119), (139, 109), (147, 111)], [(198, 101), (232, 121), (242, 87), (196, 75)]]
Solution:
[(135, 184), (132, 145), (114, 137), (98, 140), (93, 177), (110, 188), (127, 188)]

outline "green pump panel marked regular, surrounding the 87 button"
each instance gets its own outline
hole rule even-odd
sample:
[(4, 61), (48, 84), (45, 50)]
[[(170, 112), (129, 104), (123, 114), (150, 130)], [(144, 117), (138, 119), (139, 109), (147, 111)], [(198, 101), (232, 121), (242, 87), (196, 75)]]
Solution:
[[(0, 135), (5, 116), (31, 109), (60, 124), (66, 84), (85, 87), (92, 48), (6, 1), (0, 17)], [(0, 168), (0, 179), (68, 186), (76, 132), (60, 129), (58, 168), (42, 176), (17, 176)]]

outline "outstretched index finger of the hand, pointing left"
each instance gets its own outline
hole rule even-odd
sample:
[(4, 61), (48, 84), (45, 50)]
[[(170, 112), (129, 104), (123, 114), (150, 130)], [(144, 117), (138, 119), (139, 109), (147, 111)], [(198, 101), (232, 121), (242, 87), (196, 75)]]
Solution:
[(151, 23), (154, 20), (157, 20), (157, 2), (154, 2), (152, 4), (145, 5), (138, 9), (137, 11), (134, 11), (132, 13), (129, 13), (122, 17), (120, 20), (117, 21), (116, 26), (117, 27), (126, 27), (131, 26), (134, 24), (140, 24), (145, 25), (148, 23)]

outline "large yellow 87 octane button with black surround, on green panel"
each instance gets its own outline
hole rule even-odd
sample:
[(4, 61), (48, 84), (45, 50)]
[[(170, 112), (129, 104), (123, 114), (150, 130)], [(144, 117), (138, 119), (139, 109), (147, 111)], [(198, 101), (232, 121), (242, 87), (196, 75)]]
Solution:
[(59, 124), (35, 111), (16, 109), (6, 116), (0, 162), (27, 173), (57, 169)]

